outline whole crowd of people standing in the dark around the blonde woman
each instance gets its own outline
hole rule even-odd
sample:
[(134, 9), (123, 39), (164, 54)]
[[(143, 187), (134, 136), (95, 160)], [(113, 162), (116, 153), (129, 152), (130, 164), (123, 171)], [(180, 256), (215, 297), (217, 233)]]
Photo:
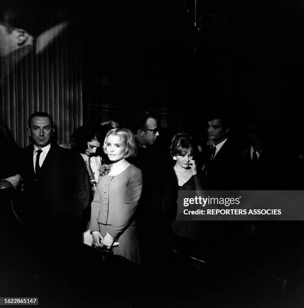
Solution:
[(230, 136), (227, 117), (217, 112), (210, 114), (205, 144), (179, 132), (164, 147), (166, 142), (157, 142), (155, 113), (142, 112), (132, 123), (132, 130), (115, 121), (84, 124), (70, 144), (59, 146), (52, 118), (35, 112), (28, 120), (32, 144), (21, 150), (2, 125), (2, 145), (15, 148), (12, 155), (2, 151), (2, 187), (15, 188), (15, 214), (39, 241), (46, 237), (58, 244), (64, 237), (140, 264), (159, 257), (151, 249), (155, 226), (167, 239), (159, 244), (164, 250), (176, 239), (189, 240), (203, 255), (206, 234), (213, 247), (208, 250), (214, 252), (222, 249), (220, 234), (233, 234), (234, 240), (235, 232), (256, 234), (258, 223), (240, 228), (236, 222), (231, 227), (227, 222), (183, 221), (176, 219), (176, 210), (180, 190), (272, 189), (267, 187), (276, 177), (272, 152), (261, 126), (250, 123), (248, 142), (241, 147)]

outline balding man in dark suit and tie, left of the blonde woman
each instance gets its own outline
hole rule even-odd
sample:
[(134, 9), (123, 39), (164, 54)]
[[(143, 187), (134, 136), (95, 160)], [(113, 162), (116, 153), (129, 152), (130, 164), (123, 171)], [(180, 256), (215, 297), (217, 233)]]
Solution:
[(89, 203), (86, 167), (81, 156), (51, 143), (54, 125), (47, 113), (33, 113), (28, 125), (33, 144), (20, 155), (24, 218), (41, 234), (74, 242)]

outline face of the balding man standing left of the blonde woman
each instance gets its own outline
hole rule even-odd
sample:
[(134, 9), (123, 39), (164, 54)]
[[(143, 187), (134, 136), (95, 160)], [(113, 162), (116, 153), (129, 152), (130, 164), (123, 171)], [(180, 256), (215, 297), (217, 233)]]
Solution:
[(50, 143), (53, 130), (54, 128), (48, 117), (33, 117), (28, 133), (32, 137), (34, 144), (38, 148), (42, 148)]

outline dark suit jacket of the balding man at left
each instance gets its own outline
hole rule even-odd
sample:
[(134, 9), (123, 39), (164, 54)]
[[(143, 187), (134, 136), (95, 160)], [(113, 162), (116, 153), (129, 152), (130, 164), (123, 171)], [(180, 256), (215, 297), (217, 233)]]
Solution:
[(23, 219), (39, 228), (71, 230), (79, 226), (89, 204), (89, 179), (80, 155), (51, 145), (36, 176), (33, 145), (21, 151)]

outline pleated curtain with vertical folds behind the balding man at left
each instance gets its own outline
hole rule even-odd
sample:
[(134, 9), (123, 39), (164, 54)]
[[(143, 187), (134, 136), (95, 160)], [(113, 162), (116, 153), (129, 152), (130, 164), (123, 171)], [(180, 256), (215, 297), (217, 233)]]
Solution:
[[(35, 33), (43, 34), (47, 42), (52, 33), (45, 32), (60, 24), (67, 27), (45, 48), (36, 53), (34, 44), (17, 49), (2, 59), (0, 69), (0, 121), (7, 125), (19, 146), (29, 144), (27, 120), (35, 111), (45, 111), (54, 120), (58, 142), (70, 142), (74, 129), (82, 124), (82, 38), (73, 15), (66, 8), (43, 8), (36, 5), (39, 18)], [(41, 31), (38, 31), (40, 30)]]

